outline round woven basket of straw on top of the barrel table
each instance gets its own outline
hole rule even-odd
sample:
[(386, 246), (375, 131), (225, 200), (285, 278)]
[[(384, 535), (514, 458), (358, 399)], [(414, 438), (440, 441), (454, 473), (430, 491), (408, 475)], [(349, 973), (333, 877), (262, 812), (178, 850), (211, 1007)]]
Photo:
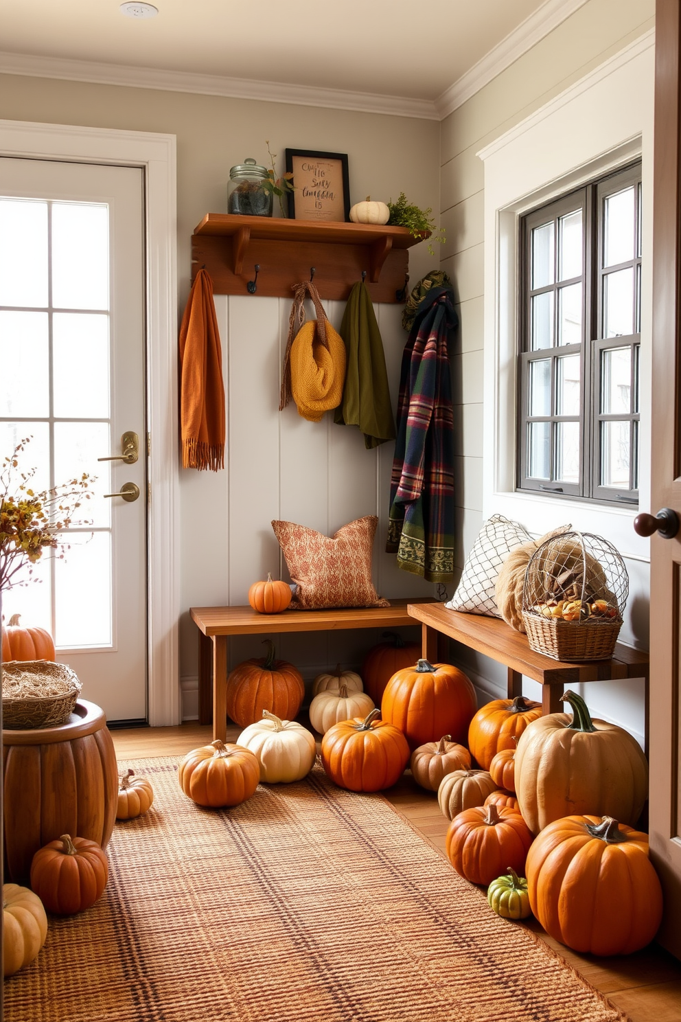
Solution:
[(52, 660), (10, 660), (2, 665), (2, 726), (7, 731), (65, 724), (81, 694), (78, 676)]

